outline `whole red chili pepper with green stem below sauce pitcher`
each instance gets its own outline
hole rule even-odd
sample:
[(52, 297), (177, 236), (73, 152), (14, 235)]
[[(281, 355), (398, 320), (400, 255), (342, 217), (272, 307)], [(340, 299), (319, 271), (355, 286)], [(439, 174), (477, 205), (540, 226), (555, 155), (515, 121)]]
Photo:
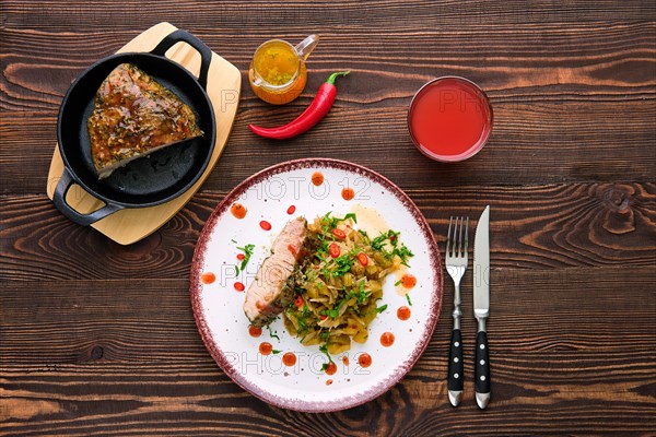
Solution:
[(337, 95), (337, 87), (335, 86), (337, 76), (347, 74), (349, 74), (349, 71), (330, 74), (328, 80), (319, 87), (314, 101), (295, 120), (278, 128), (260, 128), (255, 125), (248, 125), (248, 128), (260, 137), (274, 140), (286, 140), (308, 131), (326, 117), (326, 114), (332, 107), (335, 96)]

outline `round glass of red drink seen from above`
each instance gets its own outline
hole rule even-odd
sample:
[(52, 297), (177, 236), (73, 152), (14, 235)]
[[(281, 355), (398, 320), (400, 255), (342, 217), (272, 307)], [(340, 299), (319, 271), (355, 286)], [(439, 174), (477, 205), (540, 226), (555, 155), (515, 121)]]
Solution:
[(437, 78), (423, 85), (410, 103), (412, 142), (430, 158), (453, 163), (477, 154), (492, 132), (492, 107), (473, 82)]

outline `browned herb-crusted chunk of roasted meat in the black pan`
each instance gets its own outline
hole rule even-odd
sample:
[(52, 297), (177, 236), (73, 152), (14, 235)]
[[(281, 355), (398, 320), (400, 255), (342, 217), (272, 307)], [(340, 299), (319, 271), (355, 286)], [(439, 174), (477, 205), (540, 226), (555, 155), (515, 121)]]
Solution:
[(86, 127), (101, 179), (132, 160), (202, 135), (191, 108), (131, 63), (103, 81)]

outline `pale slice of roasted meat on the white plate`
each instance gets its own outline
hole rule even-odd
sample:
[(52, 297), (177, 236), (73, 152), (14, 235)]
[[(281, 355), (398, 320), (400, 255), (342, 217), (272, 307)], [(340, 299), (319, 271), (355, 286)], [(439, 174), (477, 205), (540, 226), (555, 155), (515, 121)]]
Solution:
[(273, 241), (271, 256), (246, 291), (244, 312), (254, 326), (270, 323), (294, 298), (294, 286), (303, 281), (298, 264), (303, 262), (306, 243), (304, 217), (289, 222)]

